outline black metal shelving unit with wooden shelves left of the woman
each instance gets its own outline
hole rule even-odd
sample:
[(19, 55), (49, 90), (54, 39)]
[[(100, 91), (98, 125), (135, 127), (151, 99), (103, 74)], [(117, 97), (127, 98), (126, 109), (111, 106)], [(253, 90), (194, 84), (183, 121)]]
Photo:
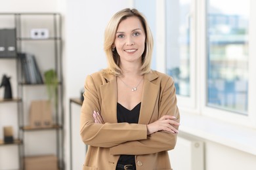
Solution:
[[(12, 83), (13, 87), (16, 87), (16, 92), (14, 92), (15, 98), (7, 100), (1, 99), (0, 96), (0, 106), (1, 103), (18, 103), (18, 109), (16, 111), (18, 114), (18, 123), (15, 128), (15, 133), (18, 133), (16, 134), (18, 139), (12, 143), (18, 144), (19, 146), (19, 163), (17, 169), (26, 169), (24, 159), (27, 157), (47, 155), (56, 156), (58, 160), (58, 170), (64, 169), (61, 16), (58, 13), (0, 13), (0, 22), (1, 24), (4, 23), (5, 27), (16, 29), (17, 55), (0, 58), (0, 60), (4, 59), (5, 61), (14, 59), (16, 62), (15, 68), (10, 68), (16, 69), (16, 73), (13, 73), (16, 80)], [(2, 26), (0, 29), (1, 28)], [(44, 29), (47, 31), (48, 35), (41, 38), (32, 37), (32, 29)], [(48, 95), (45, 84), (31, 84), (26, 82), (24, 67), (22, 67), (22, 61), (18, 55), (19, 53), (28, 53), (35, 56), (35, 61), (37, 62), (42, 77), (45, 71), (49, 69), (56, 71), (59, 80), (58, 90), (56, 92), (58, 103), (56, 107), (52, 107), (52, 126), (30, 126), (30, 107), (32, 101), (48, 100)], [(1, 61), (0, 67), (2, 63), (4, 64), (4, 62)], [(0, 76), (1, 74), (0, 69)], [(3, 144), (0, 141), (0, 147), (5, 146), (7, 146), (7, 144)], [(1, 165), (0, 170), (2, 170)]]

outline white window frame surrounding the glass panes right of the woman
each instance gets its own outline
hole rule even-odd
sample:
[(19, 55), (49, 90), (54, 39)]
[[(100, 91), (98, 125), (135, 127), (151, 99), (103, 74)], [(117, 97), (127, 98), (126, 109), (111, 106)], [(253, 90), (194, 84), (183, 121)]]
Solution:
[[(193, 0), (191, 5), (190, 97), (177, 95), (181, 112), (207, 116), (224, 122), (256, 127), (256, 1), (251, 0), (249, 22), (249, 85), (247, 115), (207, 107), (207, 0)], [(165, 0), (156, 1), (156, 69), (165, 73)], [(254, 74), (253, 74), (254, 73)]]

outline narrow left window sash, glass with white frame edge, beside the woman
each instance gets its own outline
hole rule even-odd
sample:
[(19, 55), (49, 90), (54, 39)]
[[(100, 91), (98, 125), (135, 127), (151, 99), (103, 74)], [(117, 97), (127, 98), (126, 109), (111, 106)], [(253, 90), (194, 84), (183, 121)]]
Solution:
[(165, 72), (175, 80), (180, 105), (195, 109), (195, 22), (193, 0), (165, 1)]

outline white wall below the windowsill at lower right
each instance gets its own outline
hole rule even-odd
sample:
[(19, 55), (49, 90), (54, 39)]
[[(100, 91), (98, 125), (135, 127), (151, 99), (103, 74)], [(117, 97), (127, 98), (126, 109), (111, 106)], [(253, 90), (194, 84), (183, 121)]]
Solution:
[(175, 150), (169, 151), (169, 155), (175, 170), (256, 169), (256, 156), (182, 131)]

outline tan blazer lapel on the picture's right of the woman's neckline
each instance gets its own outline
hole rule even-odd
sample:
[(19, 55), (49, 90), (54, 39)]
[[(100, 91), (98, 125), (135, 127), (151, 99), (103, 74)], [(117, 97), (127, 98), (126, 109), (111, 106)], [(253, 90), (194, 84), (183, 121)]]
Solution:
[(140, 106), (139, 124), (148, 124), (153, 114), (154, 107), (158, 98), (159, 85), (152, 83), (152, 80), (158, 78), (154, 73), (148, 73), (144, 76), (144, 88), (142, 92), (142, 101)]

